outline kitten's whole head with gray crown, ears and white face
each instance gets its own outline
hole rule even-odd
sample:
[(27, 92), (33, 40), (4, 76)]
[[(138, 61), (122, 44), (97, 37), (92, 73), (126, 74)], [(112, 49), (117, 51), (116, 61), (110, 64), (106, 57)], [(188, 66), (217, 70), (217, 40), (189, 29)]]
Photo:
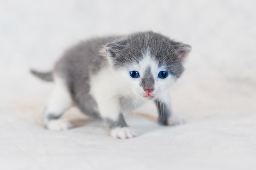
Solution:
[(154, 99), (170, 87), (184, 71), (183, 62), (191, 46), (152, 31), (129, 35), (106, 45), (115, 68), (132, 91)]

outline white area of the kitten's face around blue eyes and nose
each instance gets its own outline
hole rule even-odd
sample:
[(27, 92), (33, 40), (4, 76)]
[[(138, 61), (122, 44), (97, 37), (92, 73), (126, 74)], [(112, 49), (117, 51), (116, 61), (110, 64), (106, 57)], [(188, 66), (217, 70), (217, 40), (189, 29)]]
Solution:
[(119, 72), (128, 87), (144, 99), (159, 97), (177, 79), (165, 66), (159, 66), (148, 52), (139, 63), (131, 63), (129, 68), (123, 68)]

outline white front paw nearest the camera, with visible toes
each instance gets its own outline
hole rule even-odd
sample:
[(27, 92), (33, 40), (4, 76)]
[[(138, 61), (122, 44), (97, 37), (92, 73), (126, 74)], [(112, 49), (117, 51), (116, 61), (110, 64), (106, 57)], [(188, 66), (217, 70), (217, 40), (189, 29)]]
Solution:
[(137, 130), (129, 127), (115, 128), (110, 131), (110, 135), (119, 139), (132, 138), (137, 135)]

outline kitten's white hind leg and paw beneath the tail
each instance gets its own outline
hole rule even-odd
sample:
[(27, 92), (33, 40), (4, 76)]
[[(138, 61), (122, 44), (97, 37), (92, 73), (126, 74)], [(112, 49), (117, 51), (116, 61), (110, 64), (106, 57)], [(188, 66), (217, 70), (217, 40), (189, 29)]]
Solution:
[(70, 93), (67, 90), (67, 86), (62, 79), (54, 79), (54, 89), (52, 96), (50, 97), (47, 108), (43, 113), (43, 121), (46, 128), (51, 130), (66, 130), (72, 128), (67, 120), (59, 119), (61, 115), (72, 106), (72, 99)]

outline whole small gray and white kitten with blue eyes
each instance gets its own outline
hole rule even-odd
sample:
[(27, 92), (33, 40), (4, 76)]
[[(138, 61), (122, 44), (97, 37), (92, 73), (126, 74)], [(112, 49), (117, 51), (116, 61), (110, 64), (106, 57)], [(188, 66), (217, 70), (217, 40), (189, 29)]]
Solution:
[(31, 71), (55, 83), (43, 114), (45, 127), (71, 128), (59, 118), (75, 105), (87, 115), (105, 119), (111, 136), (131, 138), (136, 130), (126, 124), (124, 110), (132, 111), (134, 102), (140, 106), (147, 100), (154, 100), (159, 124), (177, 124), (168, 88), (182, 75), (190, 51), (190, 45), (152, 31), (81, 42), (64, 53), (52, 72)]

